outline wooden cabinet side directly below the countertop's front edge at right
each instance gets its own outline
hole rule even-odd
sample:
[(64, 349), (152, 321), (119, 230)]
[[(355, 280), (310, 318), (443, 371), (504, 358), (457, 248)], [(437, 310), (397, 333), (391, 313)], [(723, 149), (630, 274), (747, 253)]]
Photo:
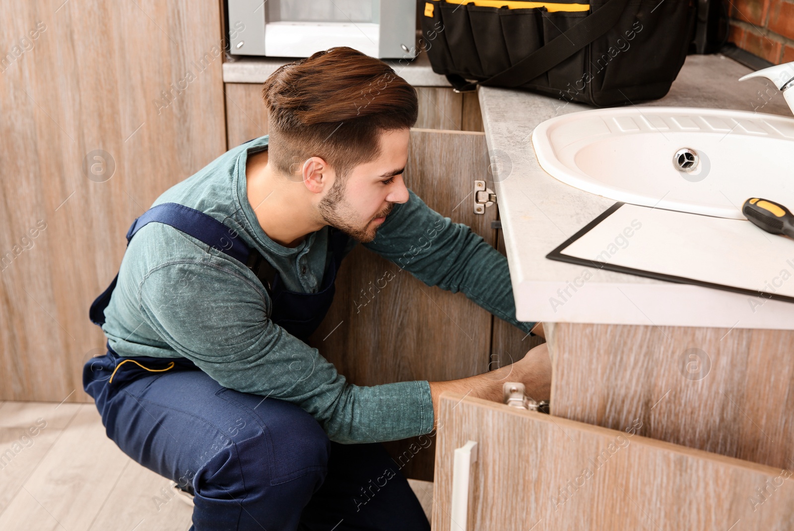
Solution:
[(552, 413), (723, 456), (794, 466), (792, 330), (544, 325)]

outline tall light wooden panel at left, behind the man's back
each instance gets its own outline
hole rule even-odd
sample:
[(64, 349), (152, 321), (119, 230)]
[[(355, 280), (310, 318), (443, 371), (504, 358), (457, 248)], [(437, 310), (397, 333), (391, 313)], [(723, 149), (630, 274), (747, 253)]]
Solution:
[(105, 337), (88, 307), (130, 223), (225, 152), (220, 11), (0, 5), (0, 51), (26, 48), (0, 58), (0, 398), (91, 402), (82, 365)]

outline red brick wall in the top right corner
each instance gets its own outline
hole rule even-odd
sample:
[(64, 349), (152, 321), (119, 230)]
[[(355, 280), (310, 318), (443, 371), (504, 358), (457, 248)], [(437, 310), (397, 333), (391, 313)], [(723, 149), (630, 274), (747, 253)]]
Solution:
[(728, 40), (774, 64), (794, 61), (794, 0), (724, 0)]

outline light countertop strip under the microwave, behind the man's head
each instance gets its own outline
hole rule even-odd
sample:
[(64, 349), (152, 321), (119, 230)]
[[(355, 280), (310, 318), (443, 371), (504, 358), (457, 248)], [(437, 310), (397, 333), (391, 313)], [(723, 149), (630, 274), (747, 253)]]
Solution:
[[(264, 83), (276, 68), (298, 60), (297, 57), (245, 57), (223, 63), (224, 83)], [(384, 60), (395, 73), (414, 87), (450, 87), (443, 75), (436, 74), (430, 67), (426, 53), (420, 53), (414, 60)]]

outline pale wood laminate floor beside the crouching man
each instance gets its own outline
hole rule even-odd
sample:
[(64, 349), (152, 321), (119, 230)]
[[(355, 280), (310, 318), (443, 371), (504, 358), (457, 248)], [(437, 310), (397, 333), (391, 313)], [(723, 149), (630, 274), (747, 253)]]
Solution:
[[(430, 518), (433, 483), (409, 482)], [(3, 531), (186, 531), (192, 512), (106, 437), (94, 404), (0, 402)]]

